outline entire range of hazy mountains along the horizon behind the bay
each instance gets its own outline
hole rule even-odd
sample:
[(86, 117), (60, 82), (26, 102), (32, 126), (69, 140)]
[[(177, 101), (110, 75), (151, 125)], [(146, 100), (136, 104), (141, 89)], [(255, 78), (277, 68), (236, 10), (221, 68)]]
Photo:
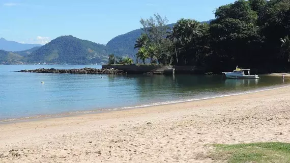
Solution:
[[(210, 23), (212, 20), (201, 23)], [(172, 24), (168, 24), (172, 28)], [(81, 40), (73, 36), (61, 36), (45, 45), (21, 44), (0, 39), (0, 64), (96, 64), (106, 63), (108, 55), (131, 58), (136, 39), (142, 30), (134, 30), (110, 40), (107, 45)]]

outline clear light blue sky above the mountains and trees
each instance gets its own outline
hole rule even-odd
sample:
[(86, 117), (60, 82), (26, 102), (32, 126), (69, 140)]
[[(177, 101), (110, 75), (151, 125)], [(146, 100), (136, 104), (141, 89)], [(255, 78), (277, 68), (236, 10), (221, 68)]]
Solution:
[(154, 13), (168, 23), (180, 18), (206, 21), (214, 10), (233, 0), (0, 0), (0, 37), (45, 44), (61, 35), (106, 44), (140, 28), (140, 18)]

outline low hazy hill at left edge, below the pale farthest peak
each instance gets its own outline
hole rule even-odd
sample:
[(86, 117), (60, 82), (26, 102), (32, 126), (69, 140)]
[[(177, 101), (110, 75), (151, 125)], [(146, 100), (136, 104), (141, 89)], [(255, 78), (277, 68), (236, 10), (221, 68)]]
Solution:
[(23, 57), (17, 55), (16, 53), (0, 50), (0, 64), (10, 65), (10, 64), (23, 64), (21, 61)]

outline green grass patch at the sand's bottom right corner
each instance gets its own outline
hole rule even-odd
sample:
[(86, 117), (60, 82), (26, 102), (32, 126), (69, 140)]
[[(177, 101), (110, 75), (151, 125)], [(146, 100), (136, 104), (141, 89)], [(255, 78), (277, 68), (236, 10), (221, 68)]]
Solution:
[(214, 145), (209, 157), (231, 162), (290, 162), (289, 143), (251, 143), (236, 145)]

